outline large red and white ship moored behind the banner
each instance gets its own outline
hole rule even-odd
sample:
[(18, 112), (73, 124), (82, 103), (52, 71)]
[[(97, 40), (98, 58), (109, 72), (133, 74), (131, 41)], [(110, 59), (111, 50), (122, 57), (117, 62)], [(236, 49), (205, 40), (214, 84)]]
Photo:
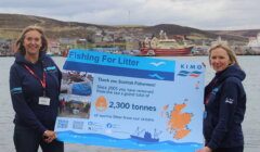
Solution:
[(160, 30), (159, 38), (145, 38), (141, 43), (140, 55), (176, 56), (191, 55), (193, 45), (184, 38), (169, 39), (164, 30)]

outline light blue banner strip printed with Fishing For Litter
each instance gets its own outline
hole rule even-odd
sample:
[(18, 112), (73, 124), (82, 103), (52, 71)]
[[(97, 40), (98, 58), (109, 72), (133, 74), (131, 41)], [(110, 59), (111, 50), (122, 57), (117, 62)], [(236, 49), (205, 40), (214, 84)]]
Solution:
[(176, 68), (174, 61), (152, 58), (144, 60), (140, 56), (110, 54), (91, 50), (69, 50), (66, 61), (158, 72), (174, 72)]

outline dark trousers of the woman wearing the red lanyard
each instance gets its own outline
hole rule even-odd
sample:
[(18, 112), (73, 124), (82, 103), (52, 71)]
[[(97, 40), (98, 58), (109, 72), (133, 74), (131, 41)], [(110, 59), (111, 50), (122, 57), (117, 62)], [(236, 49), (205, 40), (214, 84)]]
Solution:
[(14, 127), (13, 140), (16, 152), (37, 152), (39, 145), (42, 152), (64, 152), (63, 142), (53, 140), (51, 143), (47, 143), (43, 141), (42, 135), (18, 125)]

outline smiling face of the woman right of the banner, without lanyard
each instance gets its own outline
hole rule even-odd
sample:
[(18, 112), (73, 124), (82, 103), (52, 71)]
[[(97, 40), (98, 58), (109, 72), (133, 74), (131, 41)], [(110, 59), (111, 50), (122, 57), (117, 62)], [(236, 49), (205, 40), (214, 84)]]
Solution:
[(223, 48), (211, 50), (209, 62), (216, 72), (224, 71), (231, 64), (230, 56)]

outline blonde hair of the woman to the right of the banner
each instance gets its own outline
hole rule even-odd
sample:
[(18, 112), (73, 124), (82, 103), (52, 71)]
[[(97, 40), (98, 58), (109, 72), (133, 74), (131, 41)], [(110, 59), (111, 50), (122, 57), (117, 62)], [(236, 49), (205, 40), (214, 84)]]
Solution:
[(211, 56), (212, 50), (218, 49), (218, 48), (221, 48), (221, 49), (225, 50), (225, 52), (227, 53), (227, 55), (229, 55), (229, 58), (230, 58), (231, 64), (237, 64), (237, 65), (239, 66), (239, 64), (238, 64), (238, 62), (237, 62), (237, 59), (236, 59), (235, 52), (230, 48), (230, 46), (229, 46), (227, 42), (225, 42), (225, 41), (214, 42), (214, 43), (209, 48), (209, 50), (208, 50), (208, 52), (209, 52), (209, 63), (210, 63), (210, 56)]

